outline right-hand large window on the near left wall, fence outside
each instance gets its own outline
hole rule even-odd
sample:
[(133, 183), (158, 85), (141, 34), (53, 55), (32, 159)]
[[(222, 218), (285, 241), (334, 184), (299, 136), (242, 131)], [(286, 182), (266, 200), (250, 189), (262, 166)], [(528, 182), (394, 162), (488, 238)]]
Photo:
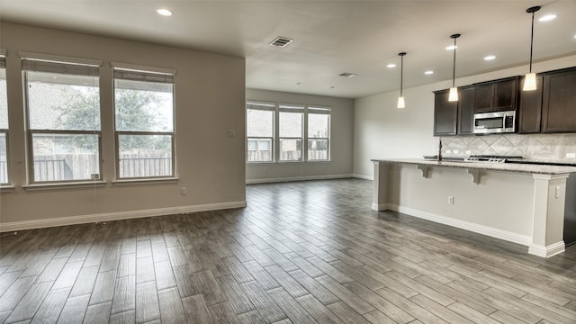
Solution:
[(175, 176), (174, 74), (114, 67), (119, 179)]

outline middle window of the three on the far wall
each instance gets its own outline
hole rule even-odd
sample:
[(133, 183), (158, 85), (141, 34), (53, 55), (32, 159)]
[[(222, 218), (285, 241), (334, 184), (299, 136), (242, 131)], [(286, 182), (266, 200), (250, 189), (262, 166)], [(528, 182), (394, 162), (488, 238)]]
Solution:
[(279, 125), (279, 161), (302, 161), (302, 135), (304, 106), (280, 104)]

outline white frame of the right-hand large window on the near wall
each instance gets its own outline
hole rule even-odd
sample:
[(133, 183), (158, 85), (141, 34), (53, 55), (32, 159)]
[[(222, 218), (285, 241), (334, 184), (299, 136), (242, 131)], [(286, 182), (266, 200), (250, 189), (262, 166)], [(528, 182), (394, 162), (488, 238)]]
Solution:
[[(139, 65), (125, 64), (112, 62), (112, 97), (113, 97), (113, 115), (114, 115), (114, 142), (115, 142), (115, 178), (116, 181), (141, 181), (141, 180), (162, 180), (162, 179), (176, 179), (176, 149), (175, 149), (175, 74), (176, 71), (170, 68), (163, 67), (142, 67)], [(117, 130), (116, 129), (116, 86), (117, 79), (140, 81), (140, 82), (154, 82), (166, 83), (172, 85), (172, 131), (139, 131), (139, 130)], [(120, 166), (120, 137), (122, 135), (159, 135), (170, 136), (171, 140), (171, 175), (151, 175), (151, 176), (121, 176)]]

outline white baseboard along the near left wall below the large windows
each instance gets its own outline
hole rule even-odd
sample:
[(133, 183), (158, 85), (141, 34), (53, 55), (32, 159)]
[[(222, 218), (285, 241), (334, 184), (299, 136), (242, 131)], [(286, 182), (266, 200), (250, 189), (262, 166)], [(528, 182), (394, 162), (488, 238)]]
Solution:
[(96, 221), (127, 220), (127, 219), (164, 216), (164, 215), (172, 215), (187, 212), (197, 212), (197, 211), (216, 211), (231, 208), (243, 208), (243, 207), (246, 207), (246, 201), (205, 203), (200, 205), (157, 208), (141, 211), (104, 212), (99, 214), (58, 217), (45, 220), (23, 220), (8, 223), (0, 223), (0, 232), (85, 224)]

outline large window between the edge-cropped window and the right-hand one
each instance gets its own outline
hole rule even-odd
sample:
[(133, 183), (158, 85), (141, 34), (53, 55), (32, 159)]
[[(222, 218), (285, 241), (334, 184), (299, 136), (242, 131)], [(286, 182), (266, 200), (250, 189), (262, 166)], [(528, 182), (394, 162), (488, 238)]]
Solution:
[(35, 58), (22, 63), (31, 183), (99, 178), (99, 67)]

